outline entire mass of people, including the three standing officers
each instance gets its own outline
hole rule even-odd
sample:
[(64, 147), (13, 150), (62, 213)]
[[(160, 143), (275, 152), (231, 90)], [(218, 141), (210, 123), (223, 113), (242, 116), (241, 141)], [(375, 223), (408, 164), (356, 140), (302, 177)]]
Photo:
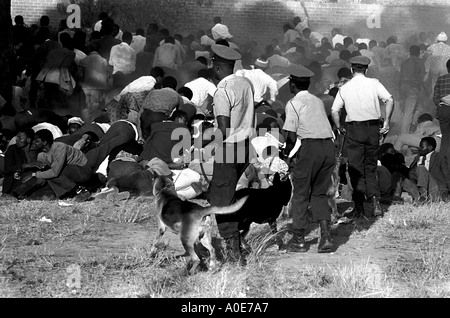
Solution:
[[(355, 203), (346, 216), (383, 216), (382, 203), (403, 193), (417, 204), (448, 199), (444, 32), (403, 44), (339, 28), (326, 37), (303, 16), (263, 46), (238, 43), (220, 17), (187, 36), (155, 23), (122, 31), (106, 13), (88, 33), (65, 20), (53, 29), (46, 16), (39, 26), (14, 21), (17, 96), (0, 108), (2, 199), (124, 200), (150, 194), (158, 171), (173, 176), (180, 197), (225, 206), (236, 189), (290, 174), (288, 249), (307, 250), (310, 211), (319, 252), (329, 252), (339, 143), (341, 184)], [(239, 221), (217, 223), (242, 261)]]

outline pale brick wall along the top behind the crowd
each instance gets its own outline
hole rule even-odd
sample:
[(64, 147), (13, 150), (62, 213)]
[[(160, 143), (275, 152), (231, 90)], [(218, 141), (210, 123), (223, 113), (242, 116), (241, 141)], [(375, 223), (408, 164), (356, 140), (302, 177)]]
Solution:
[[(52, 25), (56, 27), (62, 18), (56, 11), (56, 4), (60, 1), (12, 0), (12, 16), (22, 14), (26, 23), (31, 24), (37, 23), (41, 15), (47, 14)], [(180, 17), (182, 24), (173, 32), (187, 35), (195, 34), (198, 29), (209, 29), (213, 26), (212, 18), (220, 15), (238, 42), (255, 39), (261, 45), (266, 45), (272, 38), (282, 39), (283, 24), (292, 21), (294, 16), (302, 12), (300, 1), (183, 2), (189, 3), (190, 10)], [(450, 25), (446, 22), (450, 8), (448, 0), (339, 0), (338, 3), (310, 0), (304, 1), (304, 5), (310, 18), (311, 29), (325, 36), (329, 36), (334, 27), (341, 27), (347, 35), (359, 33), (377, 40), (386, 40), (389, 35), (394, 34), (402, 41), (420, 31), (433, 31), (435, 34), (446, 31), (450, 35)], [(367, 27), (367, 18), (374, 13), (380, 15), (380, 29)]]

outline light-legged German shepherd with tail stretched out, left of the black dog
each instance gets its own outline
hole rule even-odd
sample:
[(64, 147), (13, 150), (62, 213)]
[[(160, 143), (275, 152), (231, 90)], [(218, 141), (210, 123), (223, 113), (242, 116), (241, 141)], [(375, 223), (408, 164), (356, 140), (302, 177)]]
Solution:
[(158, 233), (157, 244), (166, 229), (179, 234), (185, 249), (182, 256), (188, 257), (187, 270), (189, 274), (196, 272), (200, 258), (194, 246), (201, 243), (209, 251), (209, 269), (216, 266), (216, 254), (211, 242), (211, 214), (231, 214), (242, 208), (247, 200), (243, 197), (227, 207), (202, 207), (201, 205), (181, 200), (175, 191), (174, 182), (170, 177), (155, 176), (153, 195), (157, 207)]

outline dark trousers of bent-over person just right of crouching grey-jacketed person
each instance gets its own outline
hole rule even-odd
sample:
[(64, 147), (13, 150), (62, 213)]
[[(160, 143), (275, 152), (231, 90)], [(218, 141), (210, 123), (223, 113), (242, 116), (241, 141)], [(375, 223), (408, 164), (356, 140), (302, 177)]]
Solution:
[(86, 153), (88, 165), (92, 172), (97, 171), (98, 167), (108, 157), (112, 150), (116, 147), (124, 145), (136, 139), (136, 132), (133, 127), (124, 121), (116, 121), (108, 129), (106, 134), (100, 138), (98, 147), (89, 150)]

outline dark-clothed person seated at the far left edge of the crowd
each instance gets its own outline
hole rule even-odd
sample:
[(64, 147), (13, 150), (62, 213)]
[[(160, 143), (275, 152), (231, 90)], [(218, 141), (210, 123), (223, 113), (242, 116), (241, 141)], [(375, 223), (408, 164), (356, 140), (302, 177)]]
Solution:
[(32, 162), (35, 162), (37, 157), (35, 151), (31, 150), (33, 138), (33, 129), (21, 129), (16, 136), (16, 143), (6, 150), (3, 194), (11, 194), (21, 184), (20, 180), (17, 179), (18, 174), (33, 168)]

